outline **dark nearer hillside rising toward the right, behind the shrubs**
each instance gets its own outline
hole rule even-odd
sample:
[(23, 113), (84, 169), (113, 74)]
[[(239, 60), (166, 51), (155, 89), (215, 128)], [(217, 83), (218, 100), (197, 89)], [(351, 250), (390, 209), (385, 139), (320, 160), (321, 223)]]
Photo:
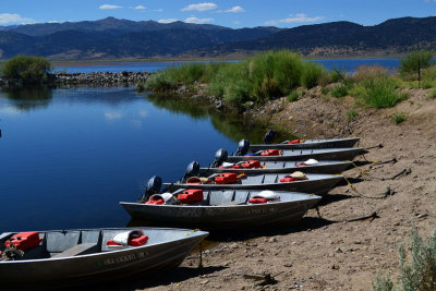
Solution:
[(264, 38), (205, 47), (190, 53), (261, 51), (289, 48), (306, 56), (361, 54), (382, 51), (402, 53), (416, 48), (436, 48), (436, 17), (402, 17), (375, 26), (350, 22), (304, 25)]

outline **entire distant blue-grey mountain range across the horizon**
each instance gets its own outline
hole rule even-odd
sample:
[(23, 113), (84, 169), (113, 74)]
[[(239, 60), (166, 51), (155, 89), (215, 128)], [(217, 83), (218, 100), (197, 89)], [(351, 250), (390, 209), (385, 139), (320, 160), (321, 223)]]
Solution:
[(0, 58), (59, 60), (244, 56), (289, 48), (313, 57), (398, 54), (436, 48), (436, 17), (402, 17), (375, 26), (332, 22), (282, 29), (107, 17), (0, 26)]

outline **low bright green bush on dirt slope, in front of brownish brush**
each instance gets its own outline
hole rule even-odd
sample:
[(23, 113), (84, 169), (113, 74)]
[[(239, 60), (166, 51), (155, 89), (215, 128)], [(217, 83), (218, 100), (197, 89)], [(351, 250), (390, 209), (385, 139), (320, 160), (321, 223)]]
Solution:
[(350, 92), (370, 107), (393, 107), (404, 99), (405, 95), (397, 92), (399, 82), (389, 76), (367, 77), (354, 85)]

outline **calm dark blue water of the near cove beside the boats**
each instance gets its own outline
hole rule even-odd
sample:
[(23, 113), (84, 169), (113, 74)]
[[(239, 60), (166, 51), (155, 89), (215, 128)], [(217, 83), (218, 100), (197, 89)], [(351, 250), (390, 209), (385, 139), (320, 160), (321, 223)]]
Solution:
[(136, 201), (152, 175), (175, 181), (253, 134), (131, 87), (0, 92), (0, 232), (124, 227), (118, 203)]

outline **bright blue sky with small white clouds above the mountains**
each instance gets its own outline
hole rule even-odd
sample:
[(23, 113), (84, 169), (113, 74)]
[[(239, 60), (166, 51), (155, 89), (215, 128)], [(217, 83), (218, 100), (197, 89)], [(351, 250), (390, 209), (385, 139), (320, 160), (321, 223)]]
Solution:
[(209, 23), (229, 27), (294, 27), (334, 21), (375, 25), (436, 14), (436, 0), (1, 0), (0, 25), (93, 21), (107, 16)]

